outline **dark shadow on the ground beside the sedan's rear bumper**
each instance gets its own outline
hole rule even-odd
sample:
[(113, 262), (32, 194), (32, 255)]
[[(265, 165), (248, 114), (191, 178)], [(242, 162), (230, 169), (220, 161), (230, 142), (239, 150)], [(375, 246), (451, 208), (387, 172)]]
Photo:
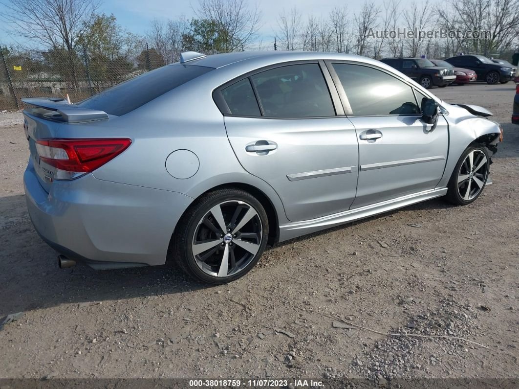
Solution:
[(0, 317), (64, 303), (145, 298), (211, 287), (171, 264), (95, 271), (59, 269), (57, 253), (36, 234), (23, 195), (0, 198)]

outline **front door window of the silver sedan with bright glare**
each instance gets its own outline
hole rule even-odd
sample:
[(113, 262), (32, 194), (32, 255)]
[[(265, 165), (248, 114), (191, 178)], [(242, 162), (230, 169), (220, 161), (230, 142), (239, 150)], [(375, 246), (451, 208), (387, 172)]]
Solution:
[(334, 63), (340, 83), (348, 96), (353, 115), (416, 115), (410, 86), (383, 71), (363, 65)]

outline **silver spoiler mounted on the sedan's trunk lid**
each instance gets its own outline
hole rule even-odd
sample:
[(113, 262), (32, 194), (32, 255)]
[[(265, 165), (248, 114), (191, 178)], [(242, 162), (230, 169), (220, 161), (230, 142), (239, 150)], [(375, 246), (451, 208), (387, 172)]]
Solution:
[(45, 114), (43, 117), (61, 120), (66, 123), (83, 123), (108, 119), (108, 114), (104, 111), (91, 110), (76, 104), (69, 104), (65, 99), (31, 97), (22, 99), (22, 101), (37, 108), (53, 111), (55, 113)]

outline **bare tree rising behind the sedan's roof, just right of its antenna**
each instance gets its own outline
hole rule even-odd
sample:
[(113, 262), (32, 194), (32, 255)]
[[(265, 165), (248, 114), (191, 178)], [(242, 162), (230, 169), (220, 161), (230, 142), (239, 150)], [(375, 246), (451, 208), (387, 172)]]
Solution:
[(242, 50), (251, 44), (259, 28), (261, 12), (247, 0), (199, 0), (196, 15), (214, 22), (221, 29), (226, 51)]

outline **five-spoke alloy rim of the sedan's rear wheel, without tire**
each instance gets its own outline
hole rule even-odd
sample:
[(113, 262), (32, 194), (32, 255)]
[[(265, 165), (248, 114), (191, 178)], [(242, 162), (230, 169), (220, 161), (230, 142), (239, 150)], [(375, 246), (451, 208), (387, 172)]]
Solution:
[(241, 272), (260, 250), (263, 226), (250, 204), (230, 200), (212, 207), (200, 219), (193, 236), (196, 264), (213, 277)]

